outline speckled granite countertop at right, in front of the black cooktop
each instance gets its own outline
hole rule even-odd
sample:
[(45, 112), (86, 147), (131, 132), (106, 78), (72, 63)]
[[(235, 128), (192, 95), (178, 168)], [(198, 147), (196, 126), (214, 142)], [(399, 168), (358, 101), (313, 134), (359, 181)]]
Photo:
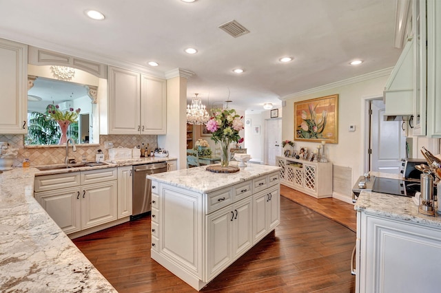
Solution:
[(354, 208), (373, 215), (441, 228), (441, 217), (418, 213), (418, 206), (411, 197), (362, 191)]

